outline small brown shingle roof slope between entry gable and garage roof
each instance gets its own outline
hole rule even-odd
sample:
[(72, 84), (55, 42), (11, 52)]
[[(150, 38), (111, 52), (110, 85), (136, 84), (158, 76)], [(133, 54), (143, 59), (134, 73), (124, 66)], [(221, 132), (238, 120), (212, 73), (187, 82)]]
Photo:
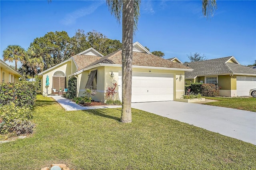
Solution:
[(76, 62), (76, 65), (78, 66), (78, 71), (90, 63), (102, 58), (100, 56), (95, 56), (95, 55), (74, 55), (72, 56), (74, 61)]

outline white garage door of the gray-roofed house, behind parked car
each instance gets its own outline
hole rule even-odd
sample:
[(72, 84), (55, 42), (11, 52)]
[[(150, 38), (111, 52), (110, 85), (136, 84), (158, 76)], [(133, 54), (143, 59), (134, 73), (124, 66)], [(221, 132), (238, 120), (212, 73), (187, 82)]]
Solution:
[(236, 77), (236, 93), (238, 96), (248, 96), (249, 90), (253, 88), (256, 88), (256, 77)]

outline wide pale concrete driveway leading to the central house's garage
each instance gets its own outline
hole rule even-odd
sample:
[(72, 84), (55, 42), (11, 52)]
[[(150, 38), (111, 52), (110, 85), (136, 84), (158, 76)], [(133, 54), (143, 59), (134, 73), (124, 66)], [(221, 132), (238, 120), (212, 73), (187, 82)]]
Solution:
[(132, 107), (256, 145), (256, 112), (177, 101), (132, 103)]

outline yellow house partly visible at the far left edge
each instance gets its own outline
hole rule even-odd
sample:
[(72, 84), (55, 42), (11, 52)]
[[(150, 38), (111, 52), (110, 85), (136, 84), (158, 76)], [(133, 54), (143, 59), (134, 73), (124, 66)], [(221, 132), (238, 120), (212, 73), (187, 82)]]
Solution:
[(0, 59), (0, 82), (1, 83), (15, 83), (19, 81), (19, 77), (23, 77), (18, 71), (10, 67)]

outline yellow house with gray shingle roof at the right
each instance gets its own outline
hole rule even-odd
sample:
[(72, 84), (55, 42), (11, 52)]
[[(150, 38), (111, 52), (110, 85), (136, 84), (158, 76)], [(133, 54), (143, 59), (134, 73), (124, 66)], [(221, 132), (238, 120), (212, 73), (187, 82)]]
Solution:
[(221, 96), (246, 96), (256, 88), (256, 69), (241, 65), (234, 56), (209, 59), (184, 65), (194, 69), (185, 72), (185, 82), (218, 84)]

